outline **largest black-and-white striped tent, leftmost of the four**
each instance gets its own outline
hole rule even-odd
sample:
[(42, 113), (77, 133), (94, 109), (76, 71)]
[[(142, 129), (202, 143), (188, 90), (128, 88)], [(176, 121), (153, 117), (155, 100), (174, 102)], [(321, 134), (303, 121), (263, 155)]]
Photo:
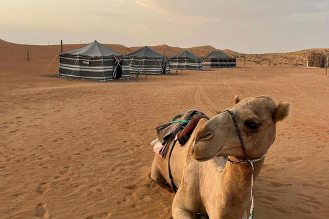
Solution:
[(60, 53), (60, 77), (110, 81), (129, 78), (127, 60), (96, 40), (84, 47)]

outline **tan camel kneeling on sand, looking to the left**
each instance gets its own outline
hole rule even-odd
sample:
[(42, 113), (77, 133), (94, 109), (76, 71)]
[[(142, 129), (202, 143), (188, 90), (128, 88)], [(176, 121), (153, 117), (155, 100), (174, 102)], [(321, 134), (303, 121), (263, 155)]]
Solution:
[[(290, 103), (276, 103), (269, 96), (242, 99), (227, 110), (234, 114), (241, 132), (247, 159), (264, 156), (276, 138), (276, 123), (286, 118)], [(247, 164), (232, 164), (244, 158), (236, 126), (229, 112), (221, 112), (210, 120), (202, 118), (188, 142), (173, 148), (170, 166), (178, 192), (173, 198), (173, 219), (247, 218), (252, 170)], [(172, 147), (172, 145), (171, 145)], [(170, 150), (171, 148), (169, 148)], [(168, 151), (169, 151), (168, 150)], [(151, 179), (171, 184), (169, 155), (155, 156)], [(254, 180), (264, 159), (254, 163)], [(171, 185), (172, 186), (172, 185)]]

